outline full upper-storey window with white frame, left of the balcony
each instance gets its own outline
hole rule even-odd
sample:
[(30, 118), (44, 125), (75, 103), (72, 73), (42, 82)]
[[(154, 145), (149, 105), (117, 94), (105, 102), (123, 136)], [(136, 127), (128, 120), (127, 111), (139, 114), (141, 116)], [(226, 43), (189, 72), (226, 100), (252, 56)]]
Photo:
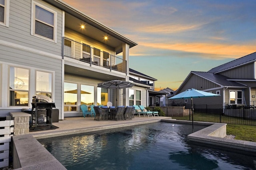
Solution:
[(32, 2), (31, 34), (56, 43), (57, 13)]

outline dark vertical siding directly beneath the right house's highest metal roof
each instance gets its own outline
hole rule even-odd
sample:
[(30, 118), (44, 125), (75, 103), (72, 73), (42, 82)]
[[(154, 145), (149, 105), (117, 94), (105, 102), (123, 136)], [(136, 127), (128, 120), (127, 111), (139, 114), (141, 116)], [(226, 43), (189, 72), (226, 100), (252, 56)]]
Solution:
[(254, 63), (246, 64), (219, 74), (235, 79), (254, 79)]

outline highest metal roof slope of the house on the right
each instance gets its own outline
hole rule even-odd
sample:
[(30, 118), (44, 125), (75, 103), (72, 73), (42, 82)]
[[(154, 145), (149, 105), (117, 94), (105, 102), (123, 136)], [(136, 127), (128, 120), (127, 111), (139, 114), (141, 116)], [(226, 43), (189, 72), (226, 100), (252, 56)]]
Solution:
[(249, 54), (249, 55), (246, 55), (244, 57), (241, 57), (239, 59), (230, 61), (228, 63), (222, 64), (222, 65), (217, 66), (215, 68), (212, 68), (208, 72), (214, 72), (214, 73), (222, 72), (224, 70), (235, 68), (237, 66), (241, 66), (241, 65), (248, 64), (248, 63), (255, 62), (255, 61), (256, 61), (256, 52), (254, 52), (252, 54)]

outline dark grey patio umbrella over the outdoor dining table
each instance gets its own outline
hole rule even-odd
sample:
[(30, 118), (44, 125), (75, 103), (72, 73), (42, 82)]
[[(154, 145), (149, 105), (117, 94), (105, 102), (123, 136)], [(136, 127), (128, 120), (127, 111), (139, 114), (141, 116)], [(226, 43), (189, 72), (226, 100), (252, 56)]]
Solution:
[(116, 89), (116, 105), (117, 105), (117, 89), (121, 88), (129, 88), (134, 86), (135, 84), (131, 82), (126, 82), (122, 80), (112, 80), (108, 82), (99, 83), (98, 87), (106, 88), (106, 89)]

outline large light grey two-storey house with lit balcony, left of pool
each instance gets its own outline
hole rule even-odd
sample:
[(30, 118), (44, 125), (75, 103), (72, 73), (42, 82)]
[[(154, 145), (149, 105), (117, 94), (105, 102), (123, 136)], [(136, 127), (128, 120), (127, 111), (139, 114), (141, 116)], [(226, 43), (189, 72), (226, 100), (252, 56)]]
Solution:
[(137, 74), (133, 93), (118, 91), (118, 105), (148, 105), (147, 95), (156, 102), (150, 91), (156, 79), (128, 69), (135, 41), (62, 0), (2, 0), (0, 6), (1, 117), (31, 108), (36, 94), (52, 98), (59, 119), (82, 115), (81, 104), (115, 106), (115, 90), (97, 84)]

